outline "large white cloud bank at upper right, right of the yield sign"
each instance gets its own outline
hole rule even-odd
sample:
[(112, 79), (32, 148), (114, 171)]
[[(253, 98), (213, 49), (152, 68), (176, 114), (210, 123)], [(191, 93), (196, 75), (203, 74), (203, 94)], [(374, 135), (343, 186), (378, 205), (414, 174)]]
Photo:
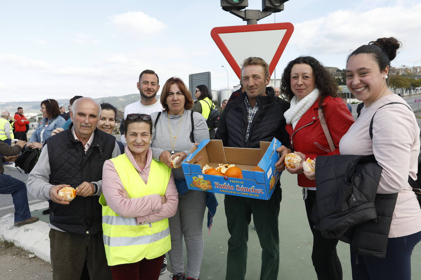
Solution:
[[(304, 54), (341, 54), (381, 37), (396, 37), (419, 50), (421, 4), (338, 10), (325, 17), (294, 24), (288, 44)], [(291, 47), (291, 46), (290, 46)]]

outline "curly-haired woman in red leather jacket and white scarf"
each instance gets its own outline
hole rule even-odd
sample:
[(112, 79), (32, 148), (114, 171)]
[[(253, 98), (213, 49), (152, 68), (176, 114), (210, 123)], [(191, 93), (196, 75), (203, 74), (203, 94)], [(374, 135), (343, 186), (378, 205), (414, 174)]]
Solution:
[[(309, 56), (290, 61), (282, 74), (281, 92), (291, 102), (290, 109), (284, 113), (286, 130), (290, 135), (290, 147), (301, 156), (301, 162), (321, 155), (339, 154), (339, 141), (354, 123), (354, 118), (338, 97), (338, 85), (323, 65)], [(333, 140), (333, 151), (320, 124), (319, 108)], [(278, 168), (285, 154), (290, 152), (285, 147), (280, 150), (283, 152)], [(316, 201), (316, 181), (306, 178), (302, 163), (296, 168), (286, 169), (289, 173), (298, 174), (298, 186), (303, 187), (307, 218), (313, 233), (312, 260), (317, 278), (341, 280), (342, 267), (336, 254), (338, 239), (323, 238), (310, 220), (310, 212)]]

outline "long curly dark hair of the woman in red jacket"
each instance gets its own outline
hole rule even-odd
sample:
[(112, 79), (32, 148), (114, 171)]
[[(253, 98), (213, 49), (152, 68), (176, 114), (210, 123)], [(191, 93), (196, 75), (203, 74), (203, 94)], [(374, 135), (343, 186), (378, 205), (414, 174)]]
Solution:
[(316, 79), (316, 87), (320, 92), (319, 107), (322, 108), (323, 100), (328, 97), (338, 97), (338, 84), (326, 68), (319, 62), (319, 60), (311, 56), (300, 56), (288, 63), (282, 73), (281, 92), (283, 92), (289, 102), (294, 97), (291, 90), (291, 69), (295, 64), (308, 64), (313, 70), (314, 78)]

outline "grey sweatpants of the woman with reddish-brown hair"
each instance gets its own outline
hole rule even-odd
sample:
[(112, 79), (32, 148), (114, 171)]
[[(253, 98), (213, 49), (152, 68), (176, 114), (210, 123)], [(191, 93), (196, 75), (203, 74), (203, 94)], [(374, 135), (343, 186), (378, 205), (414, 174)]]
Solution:
[(179, 195), (176, 215), (168, 218), (171, 232), (170, 257), (174, 275), (184, 273), (183, 236), (187, 249), (187, 277), (199, 278), (203, 257), (203, 217), (205, 215), (206, 194), (204, 191), (189, 190)]

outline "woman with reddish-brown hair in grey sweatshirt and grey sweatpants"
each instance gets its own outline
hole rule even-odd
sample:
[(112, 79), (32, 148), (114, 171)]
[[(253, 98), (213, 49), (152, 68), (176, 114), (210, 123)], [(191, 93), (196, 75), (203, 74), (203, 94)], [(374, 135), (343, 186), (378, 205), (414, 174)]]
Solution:
[[(202, 227), (205, 207), (207, 205), (209, 212), (214, 215), (216, 199), (212, 193), (189, 190), (180, 167), (195, 142), (200, 143), (204, 139), (209, 139), (208, 126), (202, 115), (189, 110), (193, 105), (193, 99), (181, 79), (170, 78), (165, 82), (160, 101), (164, 108), (163, 112), (151, 115), (152, 123), (155, 124), (152, 147), (162, 149), (160, 160), (168, 166), (174, 166), (173, 174), (179, 193), (176, 215), (169, 219), (171, 251), (168, 255), (173, 279), (182, 280), (186, 279), (185, 277), (198, 279), (203, 256)], [(193, 133), (192, 126), (194, 126)], [(176, 157), (179, 157), (178, 160), (175, 160)], [(207, 204), (207, 199), (213, 201), (213, 204)], [(209, 215), (208, 227), (210, 227)], [(184, 273), (183, 236), (187, 248), (187, 273)]]

